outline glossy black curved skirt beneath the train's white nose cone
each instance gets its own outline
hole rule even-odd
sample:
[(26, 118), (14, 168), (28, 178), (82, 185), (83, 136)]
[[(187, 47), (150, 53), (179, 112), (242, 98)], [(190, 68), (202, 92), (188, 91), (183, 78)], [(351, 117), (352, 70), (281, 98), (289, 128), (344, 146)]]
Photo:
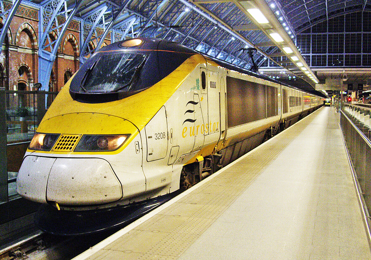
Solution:
[(129, 205), (83, 211), (58, 211), (43, 204), (36, 212), (35, 224), (40, 230), (55, 235), (85, 235), (123, 228), (178, 194), (179, 192), (175, 191)]

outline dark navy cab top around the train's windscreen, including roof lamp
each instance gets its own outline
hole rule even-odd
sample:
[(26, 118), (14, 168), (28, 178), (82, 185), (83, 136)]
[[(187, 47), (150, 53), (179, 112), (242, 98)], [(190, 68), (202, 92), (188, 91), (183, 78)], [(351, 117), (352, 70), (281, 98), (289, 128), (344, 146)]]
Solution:
[[(140, 44), (126, 44), (136, 42)], [(71, 81), (70, 95), (85, 103), (120, 100), (150, 88), (197, 53), (161, 39), (137, 38), (113, 43), (82, 65)]]

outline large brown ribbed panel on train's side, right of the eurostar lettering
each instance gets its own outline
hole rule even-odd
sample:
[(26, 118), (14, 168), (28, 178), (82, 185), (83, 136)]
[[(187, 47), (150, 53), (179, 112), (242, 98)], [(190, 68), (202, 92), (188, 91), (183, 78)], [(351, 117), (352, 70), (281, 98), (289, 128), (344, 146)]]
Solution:
[(268, 116), (276, 115), (276, 88), (232, 77), (226, 85), (229, 128), (266, 118), (267, 107)]

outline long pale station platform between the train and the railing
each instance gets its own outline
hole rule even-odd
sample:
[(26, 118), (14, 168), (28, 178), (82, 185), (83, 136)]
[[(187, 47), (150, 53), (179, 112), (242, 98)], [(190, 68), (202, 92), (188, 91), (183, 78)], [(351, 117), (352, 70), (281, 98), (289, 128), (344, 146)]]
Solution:
[(74, 259), (370, 260), (340, 131), (322, 107)]

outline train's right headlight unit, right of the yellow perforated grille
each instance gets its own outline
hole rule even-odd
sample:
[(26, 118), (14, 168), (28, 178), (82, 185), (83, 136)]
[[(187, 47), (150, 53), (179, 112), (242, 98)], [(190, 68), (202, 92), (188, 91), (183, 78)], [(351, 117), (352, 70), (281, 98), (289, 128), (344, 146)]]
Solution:
[(84, 134), (75, 152), (101, 152), (119, 149), (130, 134)]

